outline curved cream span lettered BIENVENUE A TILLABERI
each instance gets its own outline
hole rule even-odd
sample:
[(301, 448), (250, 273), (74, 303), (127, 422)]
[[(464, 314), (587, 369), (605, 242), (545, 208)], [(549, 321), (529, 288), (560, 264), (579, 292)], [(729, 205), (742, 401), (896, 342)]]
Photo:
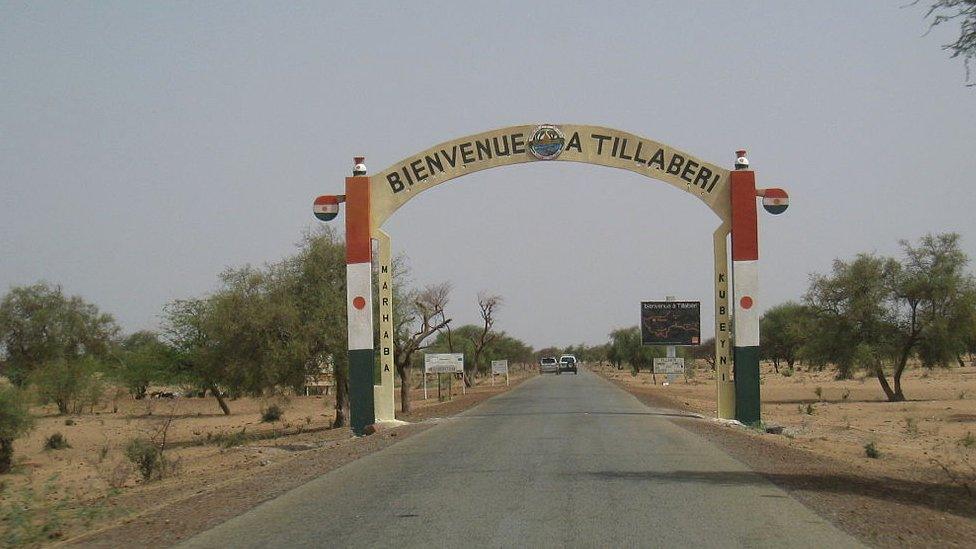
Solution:
[(632, 171), (681, 189), (730, 221), (729, 171), (653, 139), (573, 124), (499, 128), (445, 141), (369, 178), (371, 228), (423, 191), (452, 179), (524, 162), (583, 162)]

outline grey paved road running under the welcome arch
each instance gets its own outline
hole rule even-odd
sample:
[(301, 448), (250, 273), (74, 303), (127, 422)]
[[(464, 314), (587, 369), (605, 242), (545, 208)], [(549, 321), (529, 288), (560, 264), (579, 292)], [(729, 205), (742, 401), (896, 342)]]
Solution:
[(848, 547), (717, 447), (589, 372), (546, 375), (187, 547)]

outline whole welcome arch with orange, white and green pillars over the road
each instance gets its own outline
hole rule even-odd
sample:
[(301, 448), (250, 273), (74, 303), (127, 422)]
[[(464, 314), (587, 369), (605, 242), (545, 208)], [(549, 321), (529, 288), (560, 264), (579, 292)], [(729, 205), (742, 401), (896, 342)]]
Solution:
[[(718, 415), (744, 423), (760, 419), (756, 197), (775, 202), (767, 207), (773, 213), (786, 208), (788, 197), (781, 189), (756, 188), (745, 151), (736, 152), (736, 169), (730, 171), (620, 130), (542, 124), (510, 126), (446, 141), (372, 176), (366, 175), (363, 160), (355, 159), (353, 176), (346, 178), (345, 195), (320, 196), (314, 205), (316, 216), (326, 221), (338, 214), (340, 203), (346, 205), (350, 423), (355, 433), (362, 434), (376, 421), (394, 419), (392, 253), (383, 224), (412, 198), (452, 179), (498, 166), (552, 161), (632, 171), (685, 191), (715, 213), (719, 220), (712, 235)], [(732, 277), (727, 268), (730, 234)], [(372, 303), (374, 255), (380, 288), (379, 385), (374, 385), (373, 379), (377, 350)], [(734, 307), (729, 306), (730, 279)]]

